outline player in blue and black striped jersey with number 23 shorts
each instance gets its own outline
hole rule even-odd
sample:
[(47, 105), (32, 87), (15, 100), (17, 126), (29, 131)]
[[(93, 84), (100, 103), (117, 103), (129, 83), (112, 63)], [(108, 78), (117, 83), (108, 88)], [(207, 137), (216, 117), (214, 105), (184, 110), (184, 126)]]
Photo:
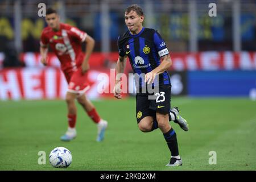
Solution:
[[(129, 31), (118, 38), (119, 58), (116, 65), (114, 97), (122, 98), (118, 74), (123, 73), (128, 56), (134, 73), (137, 73), (135, 75), (143, 78), (135, 79), (138, 127), (143, 132), (150, 132), (159, 127), (171, 152), (171, 160), (166, 166), (181, 166), (176, 133), (169, 121), (178, 123), (185, 131), (188, 131), (188, 124), (180, 116), (179, 109), (171, 109), (170, 106), (171, 82), (167, 69), (172, 65), (171, 57), (159, 32), (144, 28), (143, 20), (143, 11), (138, 5), (131, 5), (126, 9), (125, 23)], [(144, 89), (146, 92), (143, 93), (143, 88), (147, 88), (148, 84), (151, 84), (152, 88), (158, 87), (159, 92), (150, 93), (148, 89)], [(156, 97), (152, 100), (149, 96)]]

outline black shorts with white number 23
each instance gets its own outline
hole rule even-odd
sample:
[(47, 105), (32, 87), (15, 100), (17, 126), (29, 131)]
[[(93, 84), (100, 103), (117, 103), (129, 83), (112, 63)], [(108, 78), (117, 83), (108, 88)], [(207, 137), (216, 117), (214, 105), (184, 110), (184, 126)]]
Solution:
[[(148, 96), (155, 95), (154, 100)], [(168, 114), (171, 108), (171, 85), (160, 85), (159, 92), (154, 94), (137, 93), (136, 95), (136, 118), (137, 123), (146, 116), (155, 117), (156, 112)]]

